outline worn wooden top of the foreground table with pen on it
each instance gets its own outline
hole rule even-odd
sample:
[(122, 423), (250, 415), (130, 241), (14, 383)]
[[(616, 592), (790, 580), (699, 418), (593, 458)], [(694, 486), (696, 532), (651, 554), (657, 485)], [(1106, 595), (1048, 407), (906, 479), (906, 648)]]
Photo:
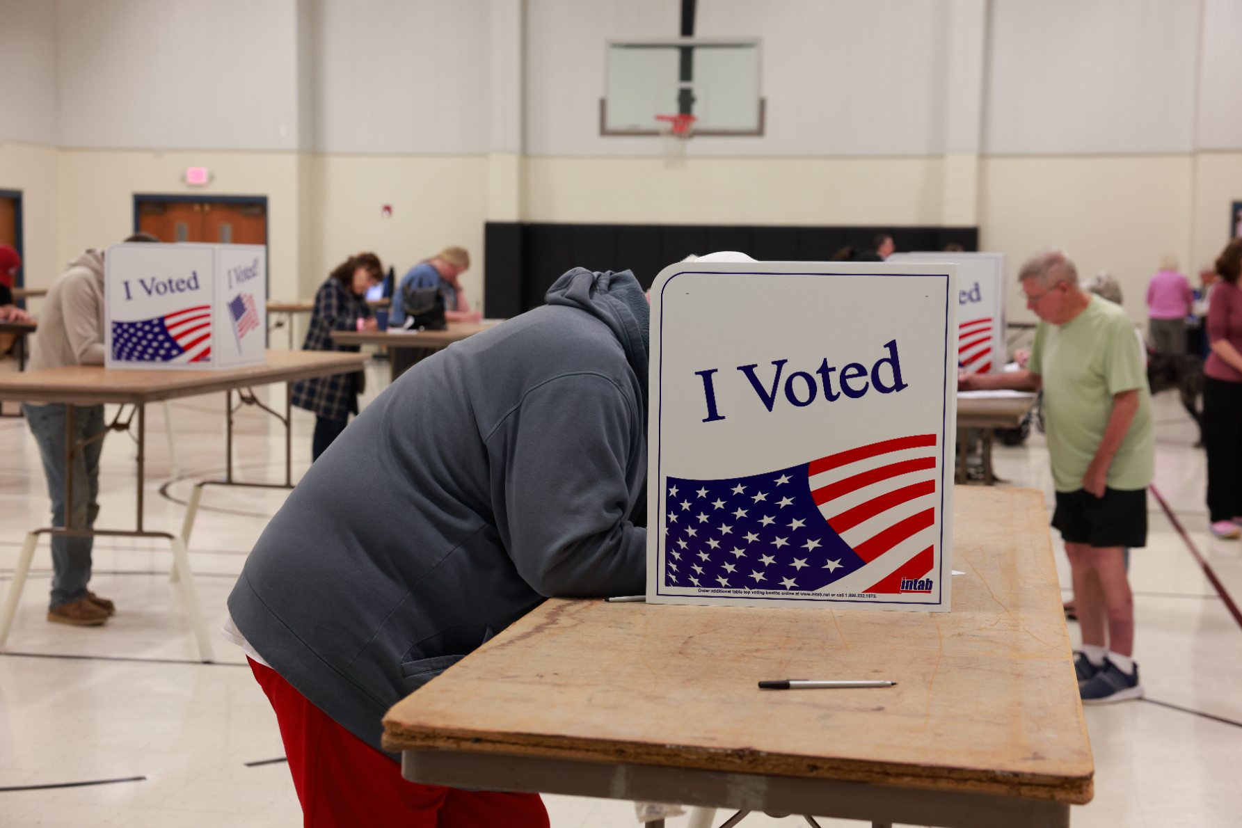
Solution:
[[(1043, 493), (954, 497), (950, 613), (553, 598), (389, 710), (384, 745), (1089, 802)], [(898, 684), (756, 688), (786, 678)]]

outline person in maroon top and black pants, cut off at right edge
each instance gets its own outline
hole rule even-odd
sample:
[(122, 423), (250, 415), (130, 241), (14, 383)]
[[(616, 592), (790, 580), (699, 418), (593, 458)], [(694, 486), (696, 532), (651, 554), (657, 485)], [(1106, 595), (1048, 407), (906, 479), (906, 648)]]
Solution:
[(1203, 448), (1207, 451), (1207, 510), (1212, 534), (1237, 538), (1242, 525), (1242, 238), (1216, 259), (1221, 282), (1207, 309), (1203, 365)]

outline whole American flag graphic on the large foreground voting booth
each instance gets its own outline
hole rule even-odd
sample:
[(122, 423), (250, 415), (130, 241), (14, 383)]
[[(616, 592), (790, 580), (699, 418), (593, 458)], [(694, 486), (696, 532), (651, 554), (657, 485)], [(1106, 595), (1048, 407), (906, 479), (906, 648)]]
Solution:
[[(766, 474), (669, 477), (662, 586), (833, 596), (929, 591), (936, 436), (837, 452)], [(927, 588), (925, 588), (927, 587)]]

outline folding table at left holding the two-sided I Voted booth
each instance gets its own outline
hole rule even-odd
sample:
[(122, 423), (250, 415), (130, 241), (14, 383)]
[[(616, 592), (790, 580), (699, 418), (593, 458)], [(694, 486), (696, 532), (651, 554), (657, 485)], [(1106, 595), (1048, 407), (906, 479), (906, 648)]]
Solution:
[[(211, 638), (207, 636), (202, 610), (199, 605), (199, 596), (194, 588), (194, 574), (190, 571), (190, 561), (186, 555), (186, 544), (189, 542), (190, 528), (194, 523), (194, 510), (197, 506), (201, 487), (214, 483), (281, 489), (293, 488), (289, 396), (286, 395), (284, 415), (281, 416), (260, 402), (251, 389), (256, 385), (294, 382), (312, 376), (327, 376), (361, 370), (364, 359), (361, 354), (343, 354), (337, 351), (267, 351), (266, 360), (261, 365), (221, 370), (138, 370), (72, 365), (0, 375), (0, 400), (66, 403), (68, 441), (65, 459), (66, 468), (70, 469), (73, 468), (73, 458), (86, 447), (84, 442), (73, 439), (73, 411), (76, 406), (101, 403), (120, 406), (116, 417), (108, 423), (107, 430), (96, 437), (96, 439), (102, 439), (108, 430), (128, 431), (134, 416), (137, 415), (138, 417), (138, 500), (134, 529), (76, 528), (72, 525), (73, 510), (72, 508), (67, 508), (66, 525), (63, 528), (43, 528), (29, 533), (26, 542), (21, 547), (21, 554), (17, 557), (17, 566), (14, 570), (12, 583), (9, 586), (9, 595), (5, 598), (4, 608), (0, 610), (0, 647), (5, 644), (14, 616), (17, 612), (17, 602), (21, 598), (21, 590), (26, 582), (26, 574), (30, 571), (30, 561), (34, 557), (39, 535), (164, 538), (173, 547), (173, 577), (174, 580), (180, 580), (184, 586), (186, 611), (190, 614), (190, 623), (194, 627), (200, 658), (204, 662), (212, 660)], [(284, 483), (250, 483), (233, 479), (232, 420), (236, 408), (232, 405), (232, 392), (235, 390), (238, 391), (240, 398), (237, 407), (241, 405), (256, 405), (284, 423)], [(226, 478), (224, 480), (204, 480), (196, 484), (191, 508), (186, 510), (180, 535), (168, 531), (147, 530), (143, 526), (143, 484), (147, 446), (145, 406), (148, 402), (175, 400), (178, 397), (211, 394), (214, 391), (225, 392), (227, 423), (225, 448)], [(128, 416), (125, 415), (127, 406), (130, 406)], [(66, 475), (65, 502), (66, 504), (73, 503), (72, 474)]]

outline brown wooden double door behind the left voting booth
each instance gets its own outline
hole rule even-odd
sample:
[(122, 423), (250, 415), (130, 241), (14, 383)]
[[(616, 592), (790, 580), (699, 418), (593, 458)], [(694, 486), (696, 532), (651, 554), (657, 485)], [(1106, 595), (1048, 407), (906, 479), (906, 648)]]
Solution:
[(201, 201), (144, 197), (138, 201), (138, 230), (161, 242), (266, 245), (263, 201)]

